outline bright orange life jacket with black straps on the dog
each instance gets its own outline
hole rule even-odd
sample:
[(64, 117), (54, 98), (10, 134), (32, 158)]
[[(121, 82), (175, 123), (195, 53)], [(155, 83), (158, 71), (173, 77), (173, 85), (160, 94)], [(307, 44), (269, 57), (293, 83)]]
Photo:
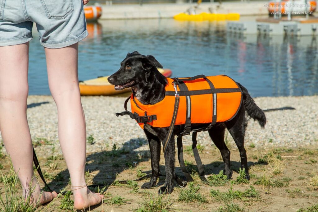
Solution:
[[(175, 103), (173, 82), (180, 81), (177, 92), (180, 95), (176, 123), (205, 124), (231, 120), (238, 112), (242, 94), (234, 80), (226, 75), (192, 78), (167, 78), (166, 95), (162, 101), (144, 105), (132, 94), (131, 111), (140, 127), (147, 123), (153, 127), (169, 127)], [(190, 79), (190, 81), (189, 81)], [(137, 115), (138, 114), (138, 115)], [(133, 117), (132, 117), (133, 118)]]

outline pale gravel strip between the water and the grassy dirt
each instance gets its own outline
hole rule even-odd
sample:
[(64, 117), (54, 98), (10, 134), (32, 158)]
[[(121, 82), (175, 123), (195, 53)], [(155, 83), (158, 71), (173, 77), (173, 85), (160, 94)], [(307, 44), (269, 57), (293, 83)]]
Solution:
[[(148, 142), (138, 124), (128, 116), (116, 117), (115, 112), (124, 110), (126, 97), (88, 96), (82, 97), (86, 116), (87, 136), (93, 135), (94, 144), (87, 144), (87, 152), (100, 152), (116, 147), (144, 150)], [(254, 99), (263, 110), (294, 107), (296, 110), (266, 112), (267, 123), (261, 129), (258, 123), (249, 121), (245, 134), (245, 145), (256, 147), (304, 147), (318, 144), (318, 96), (259, 97)], [(42, 103), (42, 104), (41, 104)], [(53, 145), (36, 147), (37, 152), (60, 151), (58, 143), (57, 109), (52, 96), (29, 96), (27, 115), (32, 139), (46, 138)], [(184, 142), (191, 144), (191, 137)], [(228, 139), (233, 143), (232, 137)], [(207, 132), (198, 133), (198, 143), (211, 147)], [(234, 143), (233, 143), (234, 144)], [(4, 148), (3, 148), (4, 151)]]

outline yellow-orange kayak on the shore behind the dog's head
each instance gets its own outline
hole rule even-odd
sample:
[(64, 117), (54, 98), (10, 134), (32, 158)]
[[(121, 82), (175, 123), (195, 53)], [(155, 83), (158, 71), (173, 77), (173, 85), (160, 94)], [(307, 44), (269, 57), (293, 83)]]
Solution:
[[(158, 68), (161, 74), (163, 74), (165, 77), (171, 76), (172, 72), (170, 69), (162, 69)], [(79, 82), (79, 90), (81, 95), (89, 95), (89, 96), (108, 96), (108, 95), (116, 95), (116, 94), (122, 94), (126, 92), (130, 92), (130, 88), (125, 88), (122, 90), (115, 90), (115, 86), (111, 85), (107, 78), (109, 76), (104, 77), (98, 77), (91, 80), (86, 81), (80, 81)]]

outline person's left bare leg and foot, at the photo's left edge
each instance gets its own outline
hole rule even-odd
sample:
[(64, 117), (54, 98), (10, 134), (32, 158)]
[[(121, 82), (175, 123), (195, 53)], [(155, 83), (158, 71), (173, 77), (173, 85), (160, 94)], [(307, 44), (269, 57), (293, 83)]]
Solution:
[[(34, 176), (31, 135), (26, 117), (29, 43), (0, 47), (0, 129), (6, 151), (22, 184), (24, 197), (31, 188), (36, 202), (40, 186)], [(40, 203), (51, 201), (56, 192), (44, 192)]]

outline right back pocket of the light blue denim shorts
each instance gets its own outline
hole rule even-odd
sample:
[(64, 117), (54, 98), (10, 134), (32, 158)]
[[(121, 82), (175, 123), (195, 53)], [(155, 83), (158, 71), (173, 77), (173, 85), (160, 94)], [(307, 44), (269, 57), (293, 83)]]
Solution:
[(73, 0), (40, 1), (44, 7), (47, 17), (51, 19), (64, 19), (74, 10)]

